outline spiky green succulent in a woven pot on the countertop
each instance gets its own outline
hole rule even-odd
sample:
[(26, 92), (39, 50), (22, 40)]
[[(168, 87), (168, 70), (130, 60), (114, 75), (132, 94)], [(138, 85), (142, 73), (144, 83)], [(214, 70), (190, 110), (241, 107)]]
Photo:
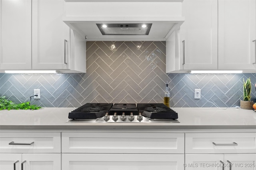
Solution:
[(240, 101), (241, 109), (252, 109), (254, 103), (251, 101), (251, 87), (251, 79), (249, 77), (243, 84), (244, 97), (243, 100)]

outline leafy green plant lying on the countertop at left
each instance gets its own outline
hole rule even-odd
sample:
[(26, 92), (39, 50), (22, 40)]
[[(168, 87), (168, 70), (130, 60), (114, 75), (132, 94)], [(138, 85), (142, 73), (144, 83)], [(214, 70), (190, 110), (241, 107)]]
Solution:
[(25, 103), (20, 103), (20, 104), (15, 104), (10, 100), (5, 99), (5, 96), (0, 97), (0, 110), (38, 110), (41, 109), (42, 107), (37, 106), (37, 105), (30, 105), (30, 102), (25, 102)]

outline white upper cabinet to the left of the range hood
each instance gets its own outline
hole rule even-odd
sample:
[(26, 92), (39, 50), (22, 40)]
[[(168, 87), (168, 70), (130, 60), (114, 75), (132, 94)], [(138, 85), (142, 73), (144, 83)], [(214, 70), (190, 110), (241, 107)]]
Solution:
[(0, 0), (0, 71), (86, 72), (86, 40), (62, 21), (64, 0)]

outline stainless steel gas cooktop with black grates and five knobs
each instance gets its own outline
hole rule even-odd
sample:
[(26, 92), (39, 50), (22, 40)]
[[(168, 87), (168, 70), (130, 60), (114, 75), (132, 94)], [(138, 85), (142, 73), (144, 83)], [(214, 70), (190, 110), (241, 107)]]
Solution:
[(86, 103), (68, 114), (68, 123), (179, 123), (163, 103)]

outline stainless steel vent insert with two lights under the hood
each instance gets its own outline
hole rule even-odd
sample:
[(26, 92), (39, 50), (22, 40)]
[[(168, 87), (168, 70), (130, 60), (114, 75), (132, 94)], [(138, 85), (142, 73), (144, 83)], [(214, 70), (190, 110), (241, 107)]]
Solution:
[(102, 35), (148, 35), (152, 23), (143, 24), (96, 24)]

